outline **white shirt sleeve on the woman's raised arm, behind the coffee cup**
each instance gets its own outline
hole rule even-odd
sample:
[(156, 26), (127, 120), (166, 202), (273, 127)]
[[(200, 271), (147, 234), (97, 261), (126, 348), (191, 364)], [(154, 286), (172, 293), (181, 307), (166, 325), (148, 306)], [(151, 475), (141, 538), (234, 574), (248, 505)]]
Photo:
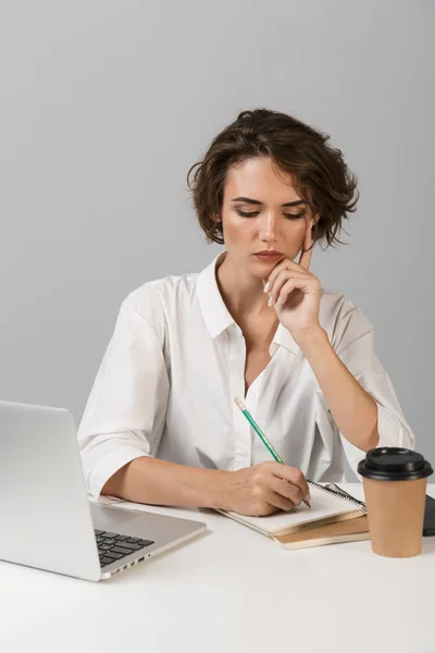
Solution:
[[(350, 301), (346, 303), (345, 308), (345, 316), (338, 322), (340, 334), (336, 352), (361, 387), (376, 402), (380, 434), (377, 447), (414, 448), (415, 439), (405, 419), (391, 380), (375, 354), (373, 325)], [(365, 457), (365, 452), (352, 445), (343, 433), (340, 438), (349, 465), (361, 479), (357, 467)]]

